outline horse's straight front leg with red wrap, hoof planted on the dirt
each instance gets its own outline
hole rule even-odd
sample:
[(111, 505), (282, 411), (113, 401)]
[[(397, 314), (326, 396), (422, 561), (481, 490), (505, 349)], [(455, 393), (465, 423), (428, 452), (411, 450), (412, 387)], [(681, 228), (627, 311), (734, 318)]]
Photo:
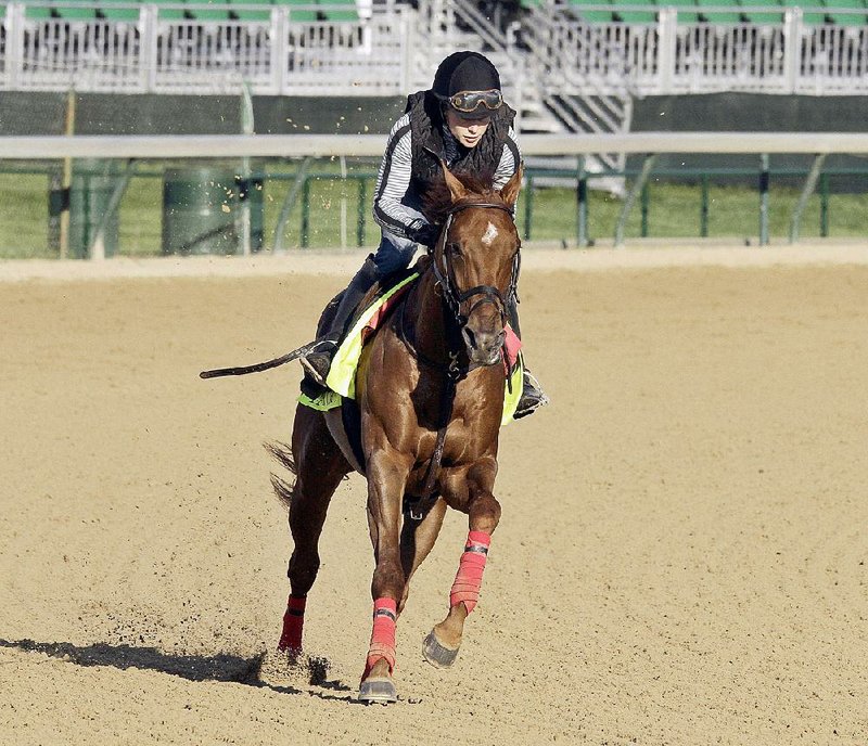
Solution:
[(368, 526), (376, 567), (371, 581), (373, 630), (359, 699), (390, 703), (397, 699), (395, 670), (398, 603), (404, 597), (405, 575), (400, 557), (400, 515), (411, 456), (394, 449), (378, 449), (368, 460)]

